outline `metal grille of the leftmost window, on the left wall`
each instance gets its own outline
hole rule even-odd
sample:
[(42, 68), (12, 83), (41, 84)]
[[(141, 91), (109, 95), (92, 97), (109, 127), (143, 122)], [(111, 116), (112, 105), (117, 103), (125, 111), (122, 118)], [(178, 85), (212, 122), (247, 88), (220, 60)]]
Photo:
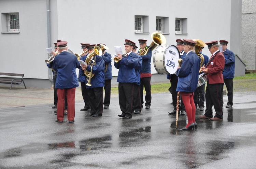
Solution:
[(7, 31), (19, 31), (19, 13), (7, 15)]

